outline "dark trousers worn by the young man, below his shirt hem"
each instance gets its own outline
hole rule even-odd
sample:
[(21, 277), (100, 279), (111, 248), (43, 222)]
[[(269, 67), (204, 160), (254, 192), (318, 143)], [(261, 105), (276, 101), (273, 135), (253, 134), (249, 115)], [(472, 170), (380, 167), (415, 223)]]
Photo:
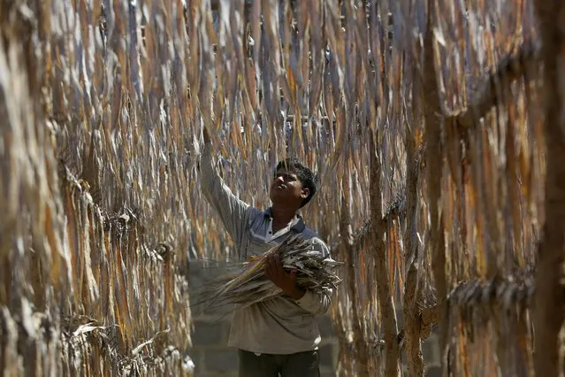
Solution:
[(319, 377), (317, 350), (290, 355), (257, 356), (247, 350), (239, 350), (240, 377)]

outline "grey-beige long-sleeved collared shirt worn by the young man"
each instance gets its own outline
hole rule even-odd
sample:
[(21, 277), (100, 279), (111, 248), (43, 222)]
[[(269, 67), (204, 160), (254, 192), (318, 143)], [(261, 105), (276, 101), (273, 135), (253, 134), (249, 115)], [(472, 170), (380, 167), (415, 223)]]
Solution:
[[(304, 225), (300, 215), (288, 227), (270, 235), (271, 209), (259, 211), (233, 195), (212, 165), (210, 143), (204, 146), (200, 166), (202, 193), (232, 236), (238, 258), (263, 254), (297, 233), (314, 239), (317, 250), (329, 258), (326, 244)], [(236, 308), (228, 346), (271, 354), (317, 350), (321, 337), (315, 316), (328, 311), (331, 296), (332, 289), (323, 294), (308, 290), (300, 300), (283, 295)]]

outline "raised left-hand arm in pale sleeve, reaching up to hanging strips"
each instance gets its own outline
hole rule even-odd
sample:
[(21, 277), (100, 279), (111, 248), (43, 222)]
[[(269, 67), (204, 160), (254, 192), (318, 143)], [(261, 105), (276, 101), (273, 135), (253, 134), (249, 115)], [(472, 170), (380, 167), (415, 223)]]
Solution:
[(259, 211), (234, 196), (212, 165), (212, 143), (206, 128), (203, 130), (204, 150), (200, 159), (201, 188), (206, 201), (218, 213), (233, 242), (241, 244), (241, 236), (249, 219)]

